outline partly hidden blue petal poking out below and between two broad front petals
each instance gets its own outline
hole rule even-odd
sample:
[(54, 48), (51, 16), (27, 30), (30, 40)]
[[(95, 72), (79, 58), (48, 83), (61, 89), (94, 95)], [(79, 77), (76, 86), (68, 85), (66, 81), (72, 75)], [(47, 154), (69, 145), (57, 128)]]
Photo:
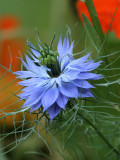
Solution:
[(58, 106), (62, 109), (65, 109), (65, 105), (68, 102), (68, 97), (63, 96), (61, 93), (59, 94), (58, 99), (56, 100), (56, 103), (58, 104)]

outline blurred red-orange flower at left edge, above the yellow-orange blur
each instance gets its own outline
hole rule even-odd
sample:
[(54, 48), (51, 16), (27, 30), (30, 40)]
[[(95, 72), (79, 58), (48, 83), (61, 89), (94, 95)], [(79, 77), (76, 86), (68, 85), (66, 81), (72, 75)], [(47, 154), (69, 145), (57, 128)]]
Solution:
[(20, 69), (17, 57), (19, 57), (19, 51), (24, 50), (24, 41), (20, 38), (13, 38), (19, 28), (19, 19), (13, 16), (3, 16), (0, 18), (0, 32), (1, 32), (1, 50), (0, 50), (0, 64), (9, 68), (10, 66), (10, 52), (12, 56), (12, 70), (17, 71)]

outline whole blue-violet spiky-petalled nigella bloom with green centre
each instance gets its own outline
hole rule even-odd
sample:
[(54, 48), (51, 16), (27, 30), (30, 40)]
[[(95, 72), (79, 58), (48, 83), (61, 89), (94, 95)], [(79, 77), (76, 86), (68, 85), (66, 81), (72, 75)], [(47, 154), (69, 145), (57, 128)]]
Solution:
[(31, 106), (32, 112), (42, 106), (52, 120), (65, 109), (69, 98), (93, 97), (90, 88), (94, 87), (88, 80), (102, 78), (100, 74), (91, 73), (101, 61), (88, 60), (90, 54), (74, 59), (73, 44), (69, 44), (68, 36), (63, 43), (60, 38), (57, 51), (53, 52), (47, 45), (41, 47), (39, 44), (37, 49), (28, 42), (31, 58), (26, 55), (26, 62), (21, 59), (26, 71), (15, 72), (19, 78), (25, 78), (19, 82), (25, 86), (19, 94), (26, 100), (23, 107)]

